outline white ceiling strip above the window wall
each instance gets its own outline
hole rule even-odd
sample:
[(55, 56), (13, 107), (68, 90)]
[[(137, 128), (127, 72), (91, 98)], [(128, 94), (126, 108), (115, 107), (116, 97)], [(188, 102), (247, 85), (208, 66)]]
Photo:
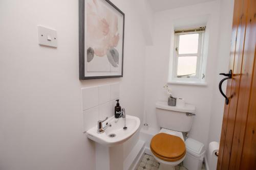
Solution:
[(164, 11), (189, 5), (205, 3), (214, 0), (148, 0), (153, 11)]

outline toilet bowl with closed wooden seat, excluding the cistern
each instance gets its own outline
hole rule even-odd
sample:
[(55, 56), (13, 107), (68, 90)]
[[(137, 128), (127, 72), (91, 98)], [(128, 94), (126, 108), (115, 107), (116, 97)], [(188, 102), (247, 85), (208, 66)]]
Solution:
[(160, 163), (159, 170), (174, 169), (174, 166), (181, 163), (186, 155), (182, 133), (164, 128), (151, 139), (150, 149), (154, 158)]

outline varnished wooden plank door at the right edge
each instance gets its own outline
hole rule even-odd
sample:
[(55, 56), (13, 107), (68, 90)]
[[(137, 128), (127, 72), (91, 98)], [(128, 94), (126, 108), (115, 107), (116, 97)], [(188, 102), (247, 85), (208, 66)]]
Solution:
[(235, 0), (229, 68), (217, 169), (256, 169), (255, 0)]

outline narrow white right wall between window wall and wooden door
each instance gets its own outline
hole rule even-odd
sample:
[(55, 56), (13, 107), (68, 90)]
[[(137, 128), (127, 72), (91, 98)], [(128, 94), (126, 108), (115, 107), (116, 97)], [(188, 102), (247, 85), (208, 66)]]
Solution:
[[(233, 0), (222, 0), (220, 3), (220, 34), (219, 34), (219, 46), (217, 55), (217, 67), (215, 73), (214, 83), (214, 95), (212, 98), (211, 117), (209, 125), (208, 142), (220, 141), (223, 109), (224, 109), (224, 97), (219, 92), (219, 82), (224, 78), (219, 74), (221, 72), (227, 73), (229, 64), (229, 52), (231, 45), (231, 28), (233, 18)], [(226, 91), (226, 81), (222, 85), (222, 89)]]

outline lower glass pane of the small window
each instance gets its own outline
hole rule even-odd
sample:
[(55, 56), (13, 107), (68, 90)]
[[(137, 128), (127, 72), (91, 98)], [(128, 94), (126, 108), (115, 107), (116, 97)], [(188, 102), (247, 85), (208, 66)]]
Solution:
[[(177, 66), (177, 76), (195, 76), (197, 69), (197, 56), (179, 57)], [(184, 76), (185, 77), (185, 76)]]

